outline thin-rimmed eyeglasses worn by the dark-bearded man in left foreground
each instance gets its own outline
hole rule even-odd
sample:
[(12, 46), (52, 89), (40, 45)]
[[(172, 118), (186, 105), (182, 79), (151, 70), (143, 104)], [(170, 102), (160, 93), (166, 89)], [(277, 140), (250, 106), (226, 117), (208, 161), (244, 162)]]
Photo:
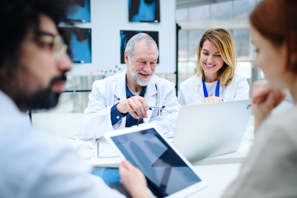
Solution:
[(67, 45), (61, 35), (41, 35), (33, 38), (39, 45), (49, 45), (52, 49), (52, 55), (56, 61), (60, 61), (62, 55), (67, 51)]

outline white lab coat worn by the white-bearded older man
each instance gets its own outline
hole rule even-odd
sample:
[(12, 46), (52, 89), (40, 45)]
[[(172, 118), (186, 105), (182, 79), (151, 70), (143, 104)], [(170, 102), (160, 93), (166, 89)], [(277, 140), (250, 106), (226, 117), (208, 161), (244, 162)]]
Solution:
[[(126, 117), (112, 126), (110, 110), (113, 105), (126, 100), (126, 70), (114, 76), (95, 81), (93, 89), (89, 95), (88, 108), (79, 122), (79, 132), (95, 132), (96, 137), (103, 136), (104, 132), (121, 129), (126, 125)], [(156, 86), (155, 86), (156, 85)], [(157, 88), (157, 90), (156, 90)], [(174, 93), (174, 83), (153, 76), (145, 93), (149, 107), (165, 106), (165, 110), (172, 114), (162, 111), (148, 110), (148, 118), (144, 118), (144, 124), (150, 123), (165, 134), (166, 137), (173, 137), (177, 123), (180, 104)]]

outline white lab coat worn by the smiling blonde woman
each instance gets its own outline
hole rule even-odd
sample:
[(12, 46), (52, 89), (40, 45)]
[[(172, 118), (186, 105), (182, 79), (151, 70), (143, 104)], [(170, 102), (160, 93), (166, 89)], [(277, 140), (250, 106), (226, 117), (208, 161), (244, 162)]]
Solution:
[[(248, 91), (247, 78), (241, 74), (234, 74), (228, 86), (220, 86), (220, 98), (224, 101), (245, 100), (248, 99)], [(192, 76), (181, 83), (178, 92), (179, 104), (199, 104), (202, 98), (204, 98), (202, 75)]]

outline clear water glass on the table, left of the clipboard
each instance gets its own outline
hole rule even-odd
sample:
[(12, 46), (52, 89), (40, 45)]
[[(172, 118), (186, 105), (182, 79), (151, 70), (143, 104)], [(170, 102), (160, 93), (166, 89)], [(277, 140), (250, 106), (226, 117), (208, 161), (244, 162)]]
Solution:
[(95, 132), (81, 132), (75, 135), (77, 141), (77, 152), (81, 159), (91, 159), (95, 155)]

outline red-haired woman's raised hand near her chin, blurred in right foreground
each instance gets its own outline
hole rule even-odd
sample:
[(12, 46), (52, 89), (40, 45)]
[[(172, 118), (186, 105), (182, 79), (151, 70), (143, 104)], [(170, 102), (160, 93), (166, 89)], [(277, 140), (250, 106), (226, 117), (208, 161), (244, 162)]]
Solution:
[(254, 82), (251, 89), (251, 107), (255, 116), (255, 132), (260, 124), (271, 113), (272, 109), (278, 106), (286, 96), (283, 90), (271, 90), (268, 82)]

